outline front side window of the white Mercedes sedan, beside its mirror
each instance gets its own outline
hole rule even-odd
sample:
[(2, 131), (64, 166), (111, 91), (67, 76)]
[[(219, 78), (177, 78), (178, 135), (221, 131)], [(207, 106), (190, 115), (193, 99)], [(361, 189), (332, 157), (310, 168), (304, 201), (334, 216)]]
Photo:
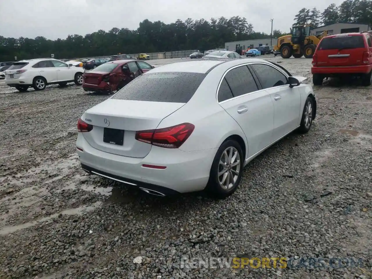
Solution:
[(250, 66), (256, 73), (262, 89), (285, 85), (288, 82), (287, 77), (274, 67), (264, 64), (252, 64)]

